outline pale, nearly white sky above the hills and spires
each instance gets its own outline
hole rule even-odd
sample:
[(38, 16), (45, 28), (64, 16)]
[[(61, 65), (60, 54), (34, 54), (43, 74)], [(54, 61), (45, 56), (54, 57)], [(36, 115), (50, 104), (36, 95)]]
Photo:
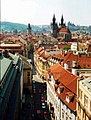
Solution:
[(91, 25), (91, 0), (1, 0), (1, 21), (50, 25), (53, 14), (59, 23)]

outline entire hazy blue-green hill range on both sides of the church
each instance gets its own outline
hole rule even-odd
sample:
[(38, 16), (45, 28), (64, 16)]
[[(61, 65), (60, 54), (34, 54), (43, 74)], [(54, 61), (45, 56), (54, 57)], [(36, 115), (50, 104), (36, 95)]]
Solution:
[[(68, 22), (67, 27), (71, 32), (82, 32), (82, 33), (90, 33), (91, 34), (91, 25), (90, 26), (79, 26), (75, 25), (71, 22)], [(50, 32), (50, 25), (31, 25), (32, 32)], [(1, 22), (1, 31), (22, 31), (26, 32), (27, 25), (20, 23), (12, 23), (12, 22)]]

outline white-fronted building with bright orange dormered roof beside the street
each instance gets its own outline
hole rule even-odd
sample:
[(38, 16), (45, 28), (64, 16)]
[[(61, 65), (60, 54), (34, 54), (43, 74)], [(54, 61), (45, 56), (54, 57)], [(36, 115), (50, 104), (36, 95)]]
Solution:
[(47, 104), (53, 120), (76, 120), (77, 76), (55, 64), (47, 74)]

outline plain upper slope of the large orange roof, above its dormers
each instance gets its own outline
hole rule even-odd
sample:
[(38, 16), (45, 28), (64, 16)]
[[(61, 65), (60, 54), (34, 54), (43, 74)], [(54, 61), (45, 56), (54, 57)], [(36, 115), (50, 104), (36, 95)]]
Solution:
[[(55, 64), (50, 67), (50, 71), (55, 80), (59, 80), (64, 86), (76, 94), (77, 76), (65, 70), (60, 64)], [(74, 84), (74, 86), (72, 86)]]

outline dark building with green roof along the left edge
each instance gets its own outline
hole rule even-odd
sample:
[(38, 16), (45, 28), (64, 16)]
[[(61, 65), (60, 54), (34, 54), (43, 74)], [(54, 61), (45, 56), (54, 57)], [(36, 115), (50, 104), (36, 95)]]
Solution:
[(18, 120), (23, 93), (23, 64), (19, 55), (0, 51), (0, 120)]

